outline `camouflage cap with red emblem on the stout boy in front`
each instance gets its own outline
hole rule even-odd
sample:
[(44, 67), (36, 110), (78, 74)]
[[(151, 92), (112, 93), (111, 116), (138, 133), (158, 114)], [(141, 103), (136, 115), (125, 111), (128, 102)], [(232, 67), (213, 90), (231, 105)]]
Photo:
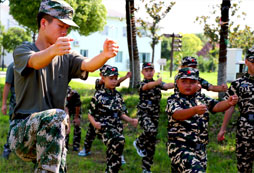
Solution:
[(191, 68), (191, 67), (186, 67), (182, 68), (178, 71), (178, 75), (176, 79), (194, 79), (198, 80), (199, 79), (199, 72), (196, 68)]

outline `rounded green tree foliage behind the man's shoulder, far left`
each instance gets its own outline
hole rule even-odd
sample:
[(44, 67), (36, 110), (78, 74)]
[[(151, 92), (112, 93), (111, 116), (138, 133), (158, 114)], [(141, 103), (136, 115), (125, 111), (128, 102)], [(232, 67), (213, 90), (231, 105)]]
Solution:
[(3, 33), (3, 48), (7, 52), (12, 52), (24, 41), (31, 41), (30, 33), (25, 32), (24, 29), (12, 27)]

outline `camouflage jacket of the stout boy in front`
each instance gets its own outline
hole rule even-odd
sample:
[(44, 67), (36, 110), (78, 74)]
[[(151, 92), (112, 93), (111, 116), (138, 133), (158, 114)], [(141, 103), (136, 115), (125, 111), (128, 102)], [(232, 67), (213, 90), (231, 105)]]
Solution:
[(166, 113), (168, 114), (168, 139), (171, 141), (208, 143), (208, 111), (202, 115), (194, 115), (188, 120), (175, 120), (172, 115), (175, 111), (188, 109), (193, 106), (205, 104), (210, 112), (218, 101), (206, 97), (204, 94), (196, 93), (186, 96), (175, 93), (168, 98)]

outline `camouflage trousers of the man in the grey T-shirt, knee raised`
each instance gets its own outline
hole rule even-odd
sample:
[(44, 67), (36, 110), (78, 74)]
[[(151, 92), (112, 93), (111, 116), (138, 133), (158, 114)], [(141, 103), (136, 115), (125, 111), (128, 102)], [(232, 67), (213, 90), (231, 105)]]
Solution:
[(65, 135), (68, 115), (61, 109), (33, 113), (10, 125), (10, 149), (33, 161), (35, 172), (66, 172)]

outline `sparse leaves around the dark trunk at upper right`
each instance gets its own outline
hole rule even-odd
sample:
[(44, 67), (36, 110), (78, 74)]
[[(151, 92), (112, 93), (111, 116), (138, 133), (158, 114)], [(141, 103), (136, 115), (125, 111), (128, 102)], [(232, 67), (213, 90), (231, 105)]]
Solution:
[[(229, 10), (230, 20), (228, 25), (229, 41), (227, 41), (227, 43), (229, 44), (229, 47), (237, 47), (246, 50), (254, 44), (254, 31), (247, 25), (244, 29), (240, 29), (240, 25), (235, 25), (234, 23), (234, 18), (245, 20), (244, 17), (246, 16), (246, 13), (239, 11), (241, 2), (241, 0), (231, 1), (232, 4)], [(203, 25), (205, 36), (208, 37), (209, 41), (215, 45), (219, 43), (219, 32), (221, 24), (223, 23), (220, 21), (220, 15), (218, 14), (218, 11), (220, 11), (220, 5), (212, 6), (212, 9), (213, 10), (210, 12), (209, 16), (196, 17), (196, 22)]]

